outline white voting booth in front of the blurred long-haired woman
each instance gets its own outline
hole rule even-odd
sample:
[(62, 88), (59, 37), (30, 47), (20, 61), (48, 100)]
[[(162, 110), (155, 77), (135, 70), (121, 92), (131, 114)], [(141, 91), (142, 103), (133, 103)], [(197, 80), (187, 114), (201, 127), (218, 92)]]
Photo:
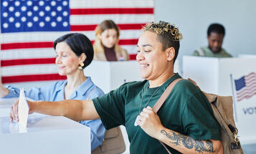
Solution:
[[(175, 62), (174, 72), (179, 72), (179, 62)], [(125, 82), (142, 81), (138, 62), (122, 61), (122, 62), (103, 62), (93, 61), (85, 68), (85, 75), (92, 77), (95, 85), (100, 87), (103, 92), (123, 85)]]

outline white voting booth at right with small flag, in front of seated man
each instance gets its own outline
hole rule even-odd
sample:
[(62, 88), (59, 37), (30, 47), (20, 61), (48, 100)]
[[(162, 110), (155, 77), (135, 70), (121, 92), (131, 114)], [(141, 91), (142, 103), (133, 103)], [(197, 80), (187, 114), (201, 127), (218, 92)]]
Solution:
[(184, 56), (183, 72), (184, 78), (194, 80), (204, 92), (233, 96), (241, 144), (256, 143), (255, 59)]

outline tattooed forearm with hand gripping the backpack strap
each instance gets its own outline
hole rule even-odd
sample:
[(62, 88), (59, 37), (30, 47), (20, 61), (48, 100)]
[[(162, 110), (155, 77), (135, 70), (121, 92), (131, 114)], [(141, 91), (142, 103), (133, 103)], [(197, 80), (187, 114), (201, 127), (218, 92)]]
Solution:
[(143, 109), (137, 123), (152, 138), (161, 140), (180, 153), (223, 153), (220, 140), (194, 140), (190, 136), (163, 127), (161, 120), (151, 107)]

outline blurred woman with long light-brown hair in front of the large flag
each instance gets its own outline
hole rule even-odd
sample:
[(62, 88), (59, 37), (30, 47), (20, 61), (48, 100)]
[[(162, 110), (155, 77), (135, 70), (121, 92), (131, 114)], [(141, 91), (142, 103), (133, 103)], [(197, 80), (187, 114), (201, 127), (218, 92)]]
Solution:
[(101, 22), (95, 29), (94, 59), (100, 61), (129, 60), (127, 51), (118, 45), (120, 29), (112, 20)]

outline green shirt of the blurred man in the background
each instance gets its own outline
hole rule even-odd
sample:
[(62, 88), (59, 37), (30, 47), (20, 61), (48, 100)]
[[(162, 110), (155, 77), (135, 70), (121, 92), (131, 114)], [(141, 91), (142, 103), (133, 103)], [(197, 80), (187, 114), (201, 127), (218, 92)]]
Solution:
[(211, 49), (209, 49), (209, 47), (200, 47), (200, 49), (196, 50), (192, 55), (199, 56), (199, 57), (217, 57), (217, 58), (232, 57), (232, 55), (227, 53), (226, 50), (223, 48), (220, 52), (214, 53), (212, 52)]

